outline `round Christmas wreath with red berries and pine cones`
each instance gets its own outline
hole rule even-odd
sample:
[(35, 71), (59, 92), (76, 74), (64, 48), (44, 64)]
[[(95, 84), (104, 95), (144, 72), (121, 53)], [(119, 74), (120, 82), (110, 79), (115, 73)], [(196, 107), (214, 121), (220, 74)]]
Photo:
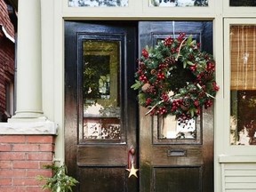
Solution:
[(147, 115), (186, 120), (212, 106), (219, 90), (215, 61), (199, 46), (192, 36), (180, 33), (142, 50), (132, 88), (139, 90), (139, 103), (148, 108)]

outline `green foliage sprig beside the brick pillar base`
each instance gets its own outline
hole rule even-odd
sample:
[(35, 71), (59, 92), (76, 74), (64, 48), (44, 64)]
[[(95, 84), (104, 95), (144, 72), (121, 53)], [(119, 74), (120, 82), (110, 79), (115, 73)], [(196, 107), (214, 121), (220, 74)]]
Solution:
[(72, 192), (72, 187), (78, 183), (75, 178), (67, 175), (66, 165), (46, 164), (44, 168), (52, 170), (52, 177), (37, 177), (37, 180), (45, 181), (43, 189), (50, 189), (52, 192)]

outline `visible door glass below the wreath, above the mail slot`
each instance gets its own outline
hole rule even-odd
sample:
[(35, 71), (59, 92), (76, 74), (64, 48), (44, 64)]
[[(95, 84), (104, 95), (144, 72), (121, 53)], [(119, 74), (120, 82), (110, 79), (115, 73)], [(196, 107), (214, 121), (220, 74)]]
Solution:
[(196, 121), (176, 120), (175, 116), (159, 117), (158, 139), (196, 139)]

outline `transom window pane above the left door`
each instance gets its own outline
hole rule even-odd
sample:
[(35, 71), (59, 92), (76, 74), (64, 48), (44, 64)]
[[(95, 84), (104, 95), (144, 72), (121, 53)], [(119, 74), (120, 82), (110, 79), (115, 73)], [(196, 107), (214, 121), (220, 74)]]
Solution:
[(128, 0), (68, 0), (69, 7), (124, 7)]

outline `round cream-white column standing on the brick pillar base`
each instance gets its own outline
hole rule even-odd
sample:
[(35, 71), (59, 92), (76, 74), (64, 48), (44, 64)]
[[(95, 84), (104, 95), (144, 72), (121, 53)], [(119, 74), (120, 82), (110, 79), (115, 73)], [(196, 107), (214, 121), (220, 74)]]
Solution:
[(19, 0), (17, 110), (12, 119), (43, 117), (40, 0)]

